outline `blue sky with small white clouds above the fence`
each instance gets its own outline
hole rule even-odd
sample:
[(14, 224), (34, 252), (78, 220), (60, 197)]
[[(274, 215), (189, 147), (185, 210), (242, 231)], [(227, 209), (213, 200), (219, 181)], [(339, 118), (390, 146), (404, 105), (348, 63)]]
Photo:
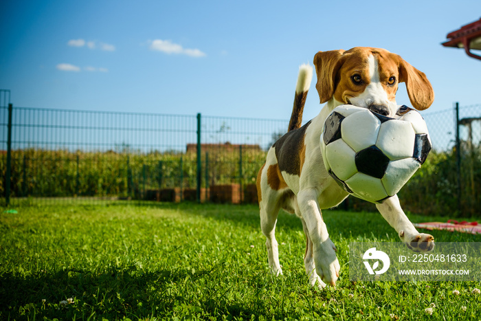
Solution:
[[(440, 45), (480, 16), (479, 0), (3, 1), (0, 88), (19, 107), (287, 119), (300, 64), (369, 46), (424, 71), (440, 111), (481, 103), (481, 61)], [(314, 79), (304, 120), (319, 111)]]

